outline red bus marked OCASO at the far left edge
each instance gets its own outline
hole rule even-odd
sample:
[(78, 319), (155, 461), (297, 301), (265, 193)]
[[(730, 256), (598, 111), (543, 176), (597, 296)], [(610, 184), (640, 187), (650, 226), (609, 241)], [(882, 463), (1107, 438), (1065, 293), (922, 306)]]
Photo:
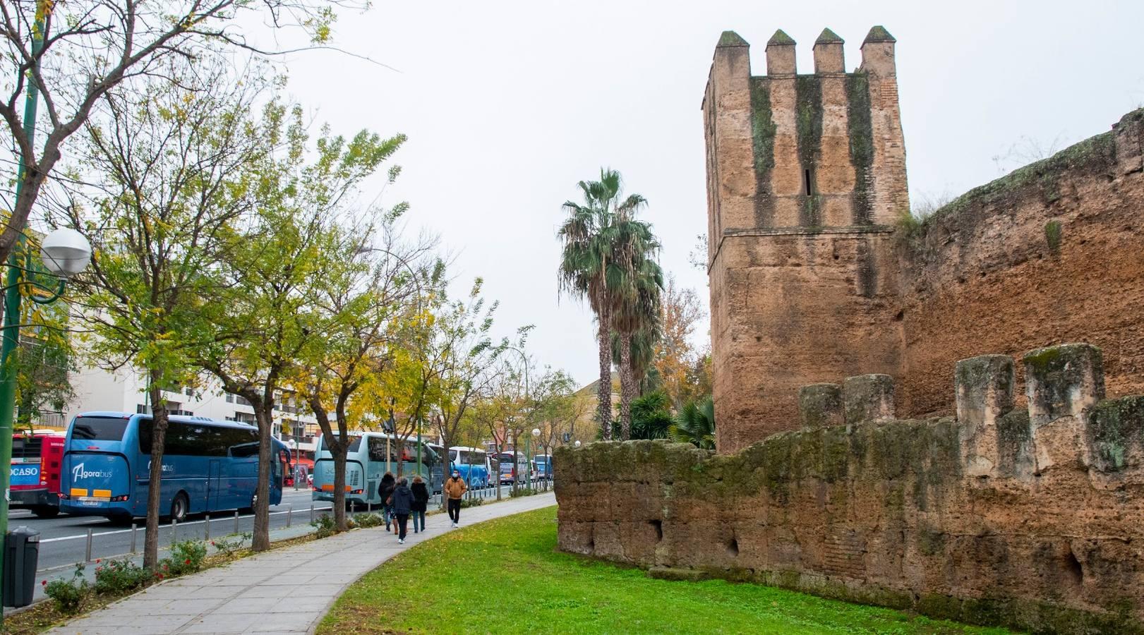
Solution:
[(59, 466), (64, 436), (18, 434), (11, 437), (11, 508), (31, 509), (40, 518), (59, 514)]

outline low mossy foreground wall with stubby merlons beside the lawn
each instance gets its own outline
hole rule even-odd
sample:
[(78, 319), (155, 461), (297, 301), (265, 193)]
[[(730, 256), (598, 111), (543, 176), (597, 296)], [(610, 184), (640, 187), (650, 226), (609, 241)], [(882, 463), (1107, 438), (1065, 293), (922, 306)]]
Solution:
[[(1101, 350), (958, 362), (956, 416), (893, 419), (888, 375), (800, 391), (801, 429), (734, 454), (555, 454), (559, 548), (1032, 632), (1144, 633), (1144, 397)], [(948, 379), (947, 379), (948, 381)]]

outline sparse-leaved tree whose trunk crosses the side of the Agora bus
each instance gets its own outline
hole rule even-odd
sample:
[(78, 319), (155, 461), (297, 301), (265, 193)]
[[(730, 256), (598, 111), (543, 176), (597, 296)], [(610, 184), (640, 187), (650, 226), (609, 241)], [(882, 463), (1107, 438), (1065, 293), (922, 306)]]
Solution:
[[(144, 565), (158, 564), (162, 452), (168, 424), (164, 387), (197, 374), (196, 351), (213, 338), (202, 320), (220, 292), (208, 272), (236, 257), (221, 237), (249, 209), (249, 165), (263, 152), (248, 112), (265, 84), (213, 64), (182, 64), (180, 82), (156, 80), (108, 95), (106, 118), (86, 130), (86, 149), (59, 212), (94, 246), (77, 279), (103, 366), (141, 368), (152, 412)], [(227, 80), (220, 80), (228, 78)], [(241, 81), (238, 81), (241, 80)], [(185, 513), (175, 497), (172, 514)]]

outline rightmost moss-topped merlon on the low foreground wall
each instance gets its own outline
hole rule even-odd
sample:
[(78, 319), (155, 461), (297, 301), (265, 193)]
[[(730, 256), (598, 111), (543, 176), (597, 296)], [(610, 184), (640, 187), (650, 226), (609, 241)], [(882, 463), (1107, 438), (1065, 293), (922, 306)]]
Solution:
[(1025, 395), (1033, 428), (1062, 416), (1080, 416), (1104, 398), (1101, 349), (1060, 344), (1025, 354)]

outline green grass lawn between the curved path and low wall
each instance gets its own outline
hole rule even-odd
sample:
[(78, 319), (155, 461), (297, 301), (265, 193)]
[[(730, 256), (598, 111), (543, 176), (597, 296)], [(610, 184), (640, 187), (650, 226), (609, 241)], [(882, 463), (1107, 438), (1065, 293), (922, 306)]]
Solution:
[(450, 532), (366, 574), (318, 633), (1007, 633), (757, 585), (654, 580), (555, 547), (555, 507)]

